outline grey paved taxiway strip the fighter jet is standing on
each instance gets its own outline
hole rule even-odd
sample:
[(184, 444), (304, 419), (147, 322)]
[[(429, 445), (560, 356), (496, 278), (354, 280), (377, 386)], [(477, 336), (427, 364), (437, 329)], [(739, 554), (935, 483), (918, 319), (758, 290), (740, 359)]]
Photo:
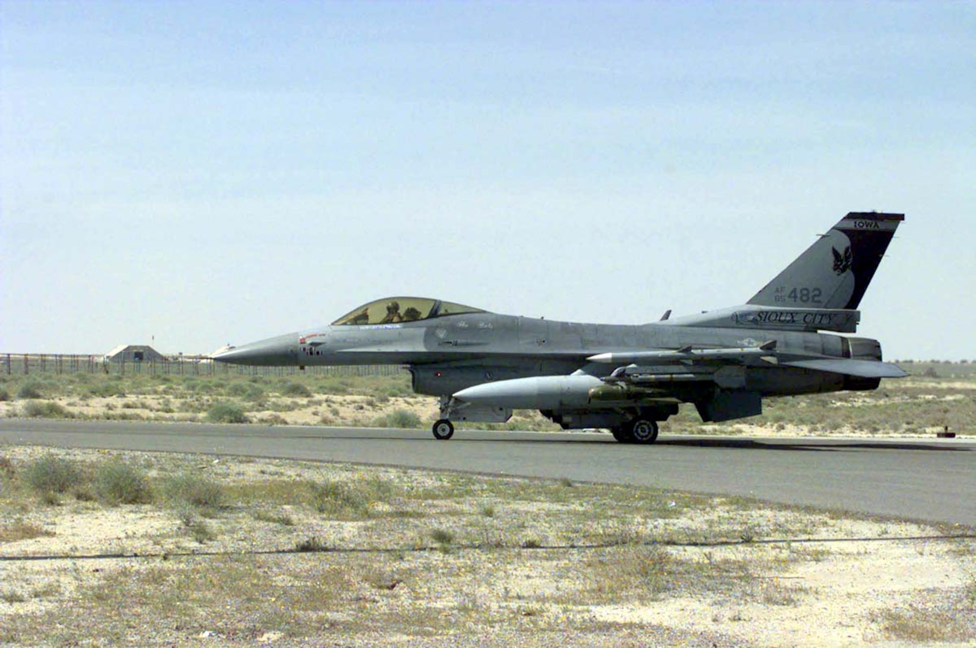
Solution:
[(422, 430), (0, 420), (0, 443), (272, 457), (568, 477), (976, 526), (976, 440)]

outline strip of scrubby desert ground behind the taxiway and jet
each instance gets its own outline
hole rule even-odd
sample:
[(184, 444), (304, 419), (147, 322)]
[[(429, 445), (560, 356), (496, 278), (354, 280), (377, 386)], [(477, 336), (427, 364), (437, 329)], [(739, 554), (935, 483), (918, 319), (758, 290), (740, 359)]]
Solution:
[[(662, 432), (925, 437), (948, 428), (976, 436), (976, 362), (904, 366), (911, 376), (885, 380), (874, 391), (768, 398), (761, 416), (727, 424), (703, 424), (693, 406), (682, 405)], [(0, 417), (425, 428), (438, 415), (436, 399), (413, 393), (406, 372), (274, 375), (224, 366), (223, 373), (200, 376), (12, 371), (0, 374)], [(468, 426), (558, 429), (526, 410), (504, 425)]]

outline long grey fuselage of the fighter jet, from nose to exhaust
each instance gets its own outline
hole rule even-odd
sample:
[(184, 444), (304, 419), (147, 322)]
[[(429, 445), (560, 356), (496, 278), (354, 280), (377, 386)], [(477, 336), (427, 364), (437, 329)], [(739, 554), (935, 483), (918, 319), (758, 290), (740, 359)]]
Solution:
[[(775, 342), (780, 352), (795, 350), (838, 358), (854, 357), (849, 340), (831, 334), (746, 327), (702, 328), (667, 322), (634, 326), (590, 324), (470, 313), (420, 322), (322, 326), (237, 347), (221, 359), (240, 364), (302, 367), (403, 364), (410, 367), (418, 393), (448, 396), (487, 382), (570, 374), (581, 364), (587, 364), (586, 358), (596, 353)], [(876, 344), (855, 340), (862, 346)], [(880, 353), (864, 357), (879, 360)], [(604, 377), (614, 368), (590, 363), (588, 373)], [(744, 369), (745, 388), (762, 396), (877, 385), (877, 379), (851, 380), (849, 376), (798, 368), (784, 371), (761, 359), (746, 364)]]

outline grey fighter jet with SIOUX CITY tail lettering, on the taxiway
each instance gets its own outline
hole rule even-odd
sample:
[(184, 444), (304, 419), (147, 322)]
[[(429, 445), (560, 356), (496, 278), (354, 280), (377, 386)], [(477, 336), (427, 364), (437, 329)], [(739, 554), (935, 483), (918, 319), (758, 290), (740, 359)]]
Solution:
[(246, 365), (404, 365), (417, 393), (437, 396), (433, 435), (454, 422), (504, 423), (539, 410), (563, 429), (608, 428), (653, 443), (691, 403), (704, 422), (762, 413), (773, 396), (875, 389), (906, 375), (881, 345), (850, 337), (857, 309), (904, 214), (852, 212), (746, 304), (639, 326), (586, 324), (391, 297), (332, 324), (230, 347)]

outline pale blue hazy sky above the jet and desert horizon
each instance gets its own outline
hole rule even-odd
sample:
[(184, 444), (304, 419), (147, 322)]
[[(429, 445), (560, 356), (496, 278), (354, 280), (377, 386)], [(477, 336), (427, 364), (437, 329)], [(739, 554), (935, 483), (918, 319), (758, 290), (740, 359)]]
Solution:
[(0, 351), (208, 352), (388, 295), (642, 323), (848, 211), (976, 358), (976, 4), (0, 3)]

